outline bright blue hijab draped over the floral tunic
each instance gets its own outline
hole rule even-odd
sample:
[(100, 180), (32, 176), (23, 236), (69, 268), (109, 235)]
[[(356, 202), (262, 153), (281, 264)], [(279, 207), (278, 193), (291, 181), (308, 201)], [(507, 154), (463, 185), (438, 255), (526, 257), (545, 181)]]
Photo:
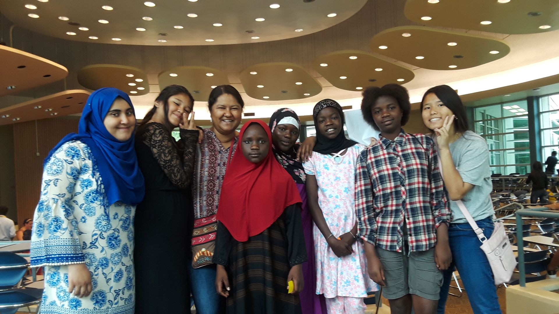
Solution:
[[(139, 204), (144, 199), (144, 176), (138, 166), (134, 149), (134, 134), (129, 140), (121, 142), (112, 136), (103, 125), (103, 120), (117, 97), (123, 98), (134, 111), (130, 97), (116, 88), (101, 88), (87, 99), (79, 120), (78, 134), (65, 136), (50, 151), (50, 156), (69, 141), (82, 141), (89, 146), (94, 164), (102, 178), (109, 204), (121, 201), (125, 204)], [(134, 112), (135, 115), (135, 112)]]

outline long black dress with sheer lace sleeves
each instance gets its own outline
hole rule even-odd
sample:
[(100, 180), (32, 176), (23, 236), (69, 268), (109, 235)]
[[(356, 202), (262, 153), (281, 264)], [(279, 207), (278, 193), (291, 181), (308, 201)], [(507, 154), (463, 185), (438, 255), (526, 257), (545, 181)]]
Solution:
[(190, 313), (188, 259), (192, 234), (192, 170), (198, 131), (175, 141), (160, 123), (136, 132), (145, 198), (134, 222), (136, 314)]

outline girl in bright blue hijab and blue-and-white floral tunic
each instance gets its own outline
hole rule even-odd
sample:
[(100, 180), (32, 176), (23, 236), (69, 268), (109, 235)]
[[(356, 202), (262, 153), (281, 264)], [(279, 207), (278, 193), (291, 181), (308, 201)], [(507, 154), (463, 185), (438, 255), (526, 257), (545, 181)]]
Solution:
[(31, 265), (45, 267), (41, 312), (134, 313), (132, 221), (144, 198), (135, 127), (126, 93), (98, 89), (78, 133), (45, 159), (31, 237)]

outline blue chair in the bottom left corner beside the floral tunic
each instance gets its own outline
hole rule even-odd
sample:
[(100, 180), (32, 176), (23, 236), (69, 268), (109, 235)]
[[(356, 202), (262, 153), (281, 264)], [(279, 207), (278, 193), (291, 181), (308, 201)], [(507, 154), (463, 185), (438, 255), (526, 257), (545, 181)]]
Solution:
[(16, 253), (0, 252), (0, 314), (41, 302), (42, 289), (18, 288), (27, 267), (27, 260)]

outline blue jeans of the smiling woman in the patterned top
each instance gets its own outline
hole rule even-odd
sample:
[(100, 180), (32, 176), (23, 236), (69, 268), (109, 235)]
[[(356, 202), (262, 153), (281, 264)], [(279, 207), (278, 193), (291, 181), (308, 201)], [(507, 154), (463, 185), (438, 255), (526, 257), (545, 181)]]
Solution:
[(197, 314), (221, 314), (225, 312), (225, 299), (215, 288), (216, 265), (201, 268), (187, 266), (190, 271), (190, 287)]

